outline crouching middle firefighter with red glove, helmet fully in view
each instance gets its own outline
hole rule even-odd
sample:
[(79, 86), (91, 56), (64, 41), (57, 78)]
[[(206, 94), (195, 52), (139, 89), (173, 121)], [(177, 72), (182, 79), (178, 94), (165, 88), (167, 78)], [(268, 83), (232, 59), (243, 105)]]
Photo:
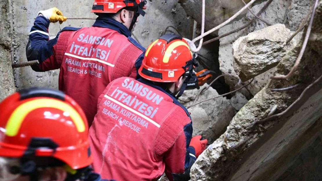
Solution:
[(166, 34), (148, 47), (142, 78), (121, 77), (106, 87), (89, 132), (102, 178), (151, 181), (166, 172), (170, 180), (190, 179), (207, 140), (192, 138), (191, 117), (176, 98), (197, 79), (194, 66), (187, 42)]

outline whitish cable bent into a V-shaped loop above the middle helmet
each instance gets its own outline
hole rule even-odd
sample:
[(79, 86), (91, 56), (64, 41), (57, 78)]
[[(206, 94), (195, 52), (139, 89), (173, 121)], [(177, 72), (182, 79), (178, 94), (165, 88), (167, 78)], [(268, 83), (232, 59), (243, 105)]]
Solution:
[(194, 49), (192, 46), (190, 46), (190, 50), (192, 52), (197, 52), (201, 49), (202, 47), (202, 43), (203, 43), (203, 38), (207, 35), (209, 35), (210, 33), (222, 28), (223, 26), (225, 26), (226, 24), (228, 24), (229, 22), (231, 22), (232, 20), (234, 20), (237, 16), (239, 16), (240, 14), (242, 14), (243, 11), (245, 11), (249, 6), (251, 6), (256, 0), (251, 0), (251, 2), (249, 2), (247, 5), (245, 5), (241, 10), (239, 10), (236, 14), (234, 14), (232, 17), (230, 17), (228, 20), (226, 20), (225, 22), (221, 23), (220, 25), (214, 27), (213, 29), (209, 30), (208, 32), (204, 33), (204, 15), (205, 15), (205, 0), (203, 0), (203, 21), (202, 21), (202, 26), (201, 26), (201, 35), (198, 36), (197, 38), (193, 39), (192, 42), (195, 43), (196, 41), (200, 40), (199, 42), (199, 46), (197, 49)]

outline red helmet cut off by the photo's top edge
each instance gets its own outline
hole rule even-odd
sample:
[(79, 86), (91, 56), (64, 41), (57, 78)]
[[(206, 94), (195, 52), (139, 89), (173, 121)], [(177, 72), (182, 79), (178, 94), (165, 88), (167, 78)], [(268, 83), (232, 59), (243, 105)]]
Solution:
[(117, 13), (125, 7), (133, 7), (142, 16), (145, 15), (146, 0), (94, 0), (92, 13)]

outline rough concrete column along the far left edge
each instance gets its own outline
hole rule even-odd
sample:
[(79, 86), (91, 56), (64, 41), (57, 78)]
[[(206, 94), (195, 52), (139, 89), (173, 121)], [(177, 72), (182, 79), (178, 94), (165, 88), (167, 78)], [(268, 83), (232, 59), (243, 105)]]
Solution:
[(0, 101), (15, 91), (11, 68), (9, 1), (0, 0)]

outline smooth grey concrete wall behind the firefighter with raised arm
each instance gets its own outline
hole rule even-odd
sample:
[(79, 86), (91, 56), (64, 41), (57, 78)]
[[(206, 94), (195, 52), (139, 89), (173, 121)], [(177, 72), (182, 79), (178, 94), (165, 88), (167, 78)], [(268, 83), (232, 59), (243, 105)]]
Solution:
[[(90, 13), (93, 0), (63, 1), (63, 0), (14, 0), (11, 1), (13, 18), (13, 61), (25, 62), (25, 46), (28, 35), (33, 26), (34, 18), (38, 11), (57, 7), (67, 17), (96, 16)], [(146, 16), (139, 18), (139, 23), (134, 31), (133, 38), (137, 39), (144, 47), (156, 40), (167, 26), (177, 27), (184, 37), (192, 37), (193, 20), (185, 14), (183, 8), (176, 1), (148, 1)], [(67, 20), (62, 25), (51, 24), (49, 34), (56, 36), (65, 26), (83, 27), (91, 26), (95, 20)], [(174, 31), (172, 28), (169, 30)], [(175, 31), (174, 31), (175, 32)], [(16, 86), (18, 89), (31, 86), (58, 88), (59, 70), (44, 73), (34, 72), (30, 67), (16, 69)]]

